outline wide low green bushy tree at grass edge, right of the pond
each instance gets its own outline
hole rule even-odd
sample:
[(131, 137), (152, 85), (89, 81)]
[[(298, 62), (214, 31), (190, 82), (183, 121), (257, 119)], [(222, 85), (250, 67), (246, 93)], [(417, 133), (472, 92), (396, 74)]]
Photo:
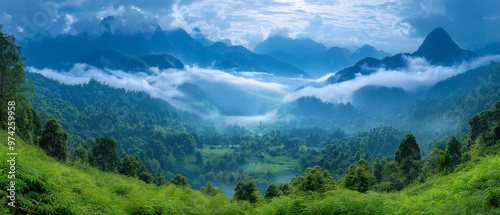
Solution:
[(309, 167), (298, 176), (292, 176), (290, 184), (299, 191), (325, 192), (334, 186), (333, 177), (328, 170), (322, 171), (321, 167)]

